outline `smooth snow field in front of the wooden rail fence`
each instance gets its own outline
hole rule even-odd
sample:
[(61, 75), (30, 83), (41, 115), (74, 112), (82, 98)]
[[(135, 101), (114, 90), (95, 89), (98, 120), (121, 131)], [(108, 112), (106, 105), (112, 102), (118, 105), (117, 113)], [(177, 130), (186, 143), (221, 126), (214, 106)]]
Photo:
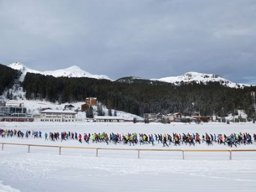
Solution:
[(148, 160), (1, 151), (0, 177), (20, 191), (253, 191), (256, 161)]

